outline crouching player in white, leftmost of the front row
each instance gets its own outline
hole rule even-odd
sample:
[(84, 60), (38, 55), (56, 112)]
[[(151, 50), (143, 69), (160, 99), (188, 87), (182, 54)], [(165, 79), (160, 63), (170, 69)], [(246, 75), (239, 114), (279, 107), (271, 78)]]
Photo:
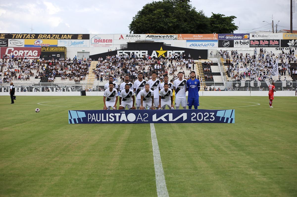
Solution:
[(118, 102), (118, 91), (113, 88), (113, 83), (109, 82), (109, 88), (103, 93), (103, 109), (116, 109), (116, 103)]

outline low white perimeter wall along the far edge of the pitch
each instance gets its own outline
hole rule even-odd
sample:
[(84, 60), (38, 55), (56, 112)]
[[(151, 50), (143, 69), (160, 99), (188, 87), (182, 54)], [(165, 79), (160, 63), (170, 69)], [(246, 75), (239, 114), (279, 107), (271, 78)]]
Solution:
[[(80, 92), (17, 92), (16, 96), (80, 96)], [(103, 92), (86, 92), (87, 96), (103, 96)], [(268, 91), (201, 91), (200, 96), (267, 96)], [(0, 92), (0, 96), (9, 96)], [(295, 91), (276, 91), (274, 96), (295, 96)]]

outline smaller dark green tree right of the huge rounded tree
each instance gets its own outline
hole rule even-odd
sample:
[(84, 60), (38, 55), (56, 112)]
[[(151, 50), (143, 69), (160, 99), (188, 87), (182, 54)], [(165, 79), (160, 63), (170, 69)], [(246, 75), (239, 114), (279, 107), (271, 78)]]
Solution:
[(233, 20), (235, 16), (225, 16), (224, 14), (214, 14), (209, 18), (210, 30), (213, 33), (233, 33), (238, 29)]

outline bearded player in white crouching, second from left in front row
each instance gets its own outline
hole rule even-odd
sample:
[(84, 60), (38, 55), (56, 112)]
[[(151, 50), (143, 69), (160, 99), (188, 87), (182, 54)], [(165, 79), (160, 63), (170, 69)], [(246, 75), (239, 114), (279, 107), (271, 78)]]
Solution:
[(134, 91), (130, 89), (129, 84), (126, 84), (125, 89), (122, 90), (120, 93), (119, 109), (126, 109), (126, 106), (128, 106), (128, 109), (136, 109), (134, 106), (134, 103), (135, 103)]

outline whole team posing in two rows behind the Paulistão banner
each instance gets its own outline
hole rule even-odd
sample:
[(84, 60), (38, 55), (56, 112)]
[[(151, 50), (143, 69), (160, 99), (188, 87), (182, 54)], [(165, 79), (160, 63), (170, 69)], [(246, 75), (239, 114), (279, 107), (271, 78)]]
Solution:
[[(103, 109), (198, 109), (200, 81), (196, 78), (195, 71), (190, 72), (190, 79), (185, 80), (183, 73), (178, 72), (178, 79), (173, 83), (168, 82), (168, 76), (164, 75), (164, 82), (158, 80), (157, 73), (151, 73), (151, 79), (143, 79), (143, 73), (138, 73), (138, 79), (131, 83), (130, 76), (125, 75), (125, 82), (119, 86), (113, 82), (113, 76), (109, 76), (109, 82), (104, 85)], [(189, 96), (186, 98), (186, 92)], [(174, 96), (173, 96), (174, 94)], [(119, 98), (118, 98), (119, 97)], [(136, 98), (135, 98), (136, 97)], [(176, 98), (174, 102), (174, 97)], [(175, 106), (175, 108), (174, 108)]]

